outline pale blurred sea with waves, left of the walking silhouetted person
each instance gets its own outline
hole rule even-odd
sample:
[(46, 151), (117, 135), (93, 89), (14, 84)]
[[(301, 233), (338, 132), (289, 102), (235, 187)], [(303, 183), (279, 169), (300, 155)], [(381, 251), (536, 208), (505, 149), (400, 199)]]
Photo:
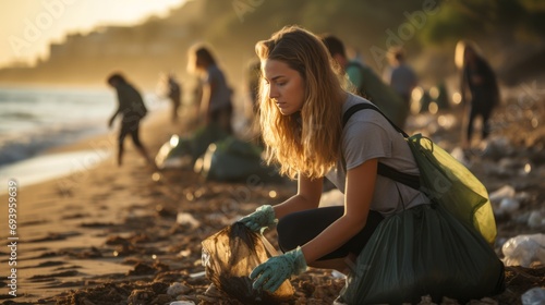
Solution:
[(114, 109), (106, 89), (0, 88), (0, 168), (107, 132)]

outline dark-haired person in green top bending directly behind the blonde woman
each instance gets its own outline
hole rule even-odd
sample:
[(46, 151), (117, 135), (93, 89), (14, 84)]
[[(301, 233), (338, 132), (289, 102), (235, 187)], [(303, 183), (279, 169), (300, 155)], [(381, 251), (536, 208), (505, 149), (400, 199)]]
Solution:
[(335, 35), (324, 34), (322, 40), (329, 54), (347, 74), (355, 93), (375, 103), (396, 125), (403, 127), (409, 107), (401, 97), (366, 64), (349, 60), (344, 44)]

